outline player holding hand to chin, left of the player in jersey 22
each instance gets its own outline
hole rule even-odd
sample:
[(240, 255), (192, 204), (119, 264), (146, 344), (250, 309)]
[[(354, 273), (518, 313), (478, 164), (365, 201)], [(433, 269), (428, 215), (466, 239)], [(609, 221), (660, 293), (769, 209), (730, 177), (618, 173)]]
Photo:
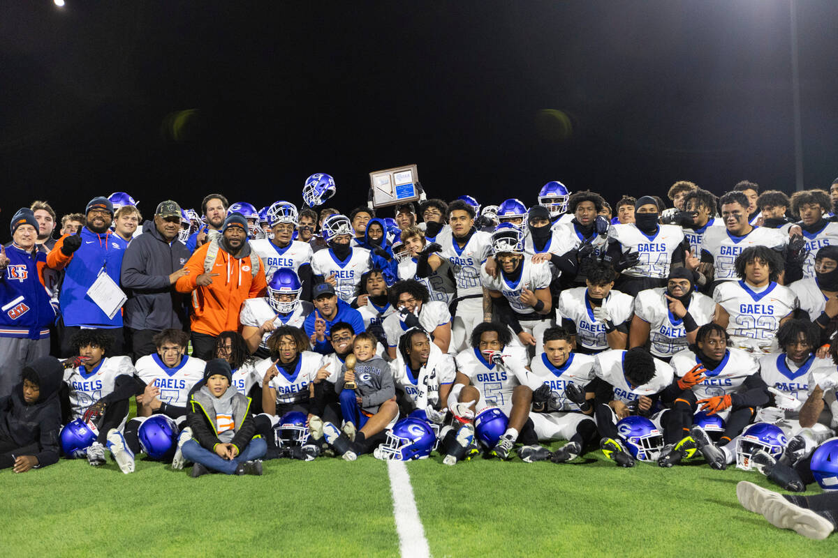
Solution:
[(652, 355), (669, 361), (695, 343), (698, 328), (710, 323), (716, 313), (713, 299), (695, 288), (696, 273), (675, 268), (670, 270), (666, 287), (641, 290), (634, 299), (631, 346), (648, 345)]

